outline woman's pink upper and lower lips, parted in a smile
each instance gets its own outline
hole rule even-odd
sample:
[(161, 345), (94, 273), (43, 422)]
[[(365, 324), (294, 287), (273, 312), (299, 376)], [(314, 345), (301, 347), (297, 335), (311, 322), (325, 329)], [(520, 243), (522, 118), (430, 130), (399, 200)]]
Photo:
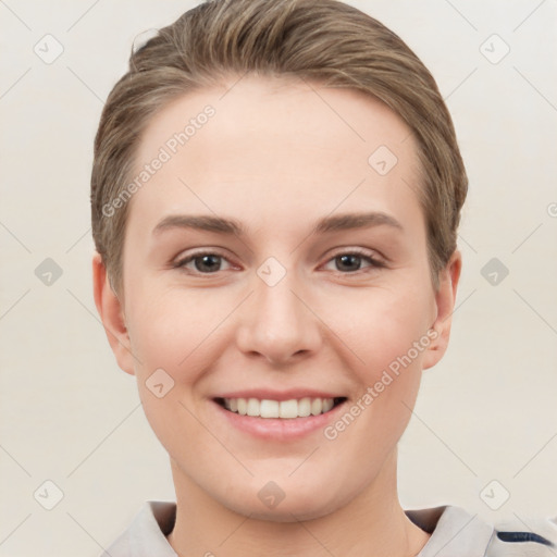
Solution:
[[(248, 392), (242, 392), (244, 394)], [(253, 393), (253, 392), (250, 392)], [(252, 398), (270, 398), (277, 396), (274, 393), (272, 396), (269, 394), (262, 395), (261, 391), (257, 392), (256, 395), (251, 395)], [(307, 393), (307, 392), (305, 392)], [(231, 396), (232, 395), (232, 396)], [(284, 394), (284, 398), (282, 400), (288, 400), (290, 398), (298, 398), (298, 396), (293, 396), (292, 393), (286, 395)], [(314, 396), (314, 395), (306, 395), (306, 396)], [(334, 398), (332, 396), (320, 395), (323, 398)], [(236, 393), (226, 394), (225, 398), (249, 398), (250, 396), (240, 396)], [(224, 398), (224, 397), (223, 397)], [(304, 398), (300, 396), (299, 398)], [(315, 396), (318, 398), (318, 396)], [(222, 417), (222, 419), (226, 420), (230, 426), (240, 431), (242, 433), (247, 433), (256, 438), (265, 440), (265, 441), (296, 441), (300, 440), (305, 436), (308, 436), (318, 431), (323, 431), (330, 423), (334, 422), (338, 419), (338, 414), (345, 410), (346, 397), (345, 400), (325, 413), (320, 413), (319, 416), (308, 416), (307, 418), (260, 418), (260, 417), (251, 417), (251, 416), (240, 416), (236, 412), (231, 412), (226, 410), (226, 408), (222, 407), (214, 399), (211, 400), (212, 406), (216, 409), (218, 416)], [(278, 400), (278, 398), (274, 398)]]

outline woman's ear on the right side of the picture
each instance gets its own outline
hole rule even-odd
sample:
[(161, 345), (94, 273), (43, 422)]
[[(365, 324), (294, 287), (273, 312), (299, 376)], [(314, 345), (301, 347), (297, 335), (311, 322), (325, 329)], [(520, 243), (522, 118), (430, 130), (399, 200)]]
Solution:
[(435, 333), (429, 333), (432, 343), (424, 354), (424, 370), (435, 366), (447, 350), (461, 268), (462, 256), (460, 251), (455, 250), (445, 269), (440, 272), (440, 288), (435, 293), (437, 317), (431, 326)]

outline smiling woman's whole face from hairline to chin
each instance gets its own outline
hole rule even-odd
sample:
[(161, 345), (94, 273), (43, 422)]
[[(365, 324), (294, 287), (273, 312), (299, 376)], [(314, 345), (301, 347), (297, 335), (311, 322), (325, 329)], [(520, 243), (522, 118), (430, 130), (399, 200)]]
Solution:
[(151, 120), (121, 306), (97, 299), (121, 310), (111, 343), (176, 485), (317, 518), (391, 473), (458, 273), (434, 290), (416, 144), (388, 108), (284, 79), (225, 90)]

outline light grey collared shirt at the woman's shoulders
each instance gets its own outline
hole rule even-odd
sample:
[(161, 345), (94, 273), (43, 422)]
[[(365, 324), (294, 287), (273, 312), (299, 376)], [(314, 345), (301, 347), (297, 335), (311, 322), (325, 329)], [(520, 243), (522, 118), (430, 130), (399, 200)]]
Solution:
[[(451, 505), (405, 510), (432, 534), (416, 557), (555, 557), (557, 517), (493, 527)], [(101, 557), (177, 557), (166, 535), (174, 528), (176, 504), (149, 500)], [(528, 525), (527, 525), (528, 524)], [(531, 530), (532, 529), (532, 530)]]

